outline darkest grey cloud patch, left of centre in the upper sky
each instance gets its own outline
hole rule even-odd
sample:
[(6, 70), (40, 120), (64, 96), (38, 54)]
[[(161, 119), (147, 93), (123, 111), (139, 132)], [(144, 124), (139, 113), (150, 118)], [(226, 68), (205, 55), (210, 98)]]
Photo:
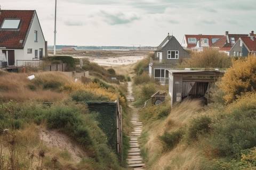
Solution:
[(122, 12), (119, 12), (117, 14), (110, 14), (108, 12), (101, 11), (100, 15), (103, 16), (105, 21), (110, 25), (127, 24), (140, 19), (136, 15), (125, 16), (125, 14)]

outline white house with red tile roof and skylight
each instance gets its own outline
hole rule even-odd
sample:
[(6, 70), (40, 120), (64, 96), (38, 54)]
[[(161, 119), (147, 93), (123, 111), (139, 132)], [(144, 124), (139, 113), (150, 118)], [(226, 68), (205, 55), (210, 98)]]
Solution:
[(0, 67), (22, 66), (47, 56), (47, 41), (35, 10), (0, 9)]

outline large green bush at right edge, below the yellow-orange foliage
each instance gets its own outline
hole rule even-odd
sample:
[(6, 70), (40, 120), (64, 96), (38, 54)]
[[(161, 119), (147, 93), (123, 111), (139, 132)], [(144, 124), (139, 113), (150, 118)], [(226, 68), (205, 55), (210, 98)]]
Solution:
[(243, 149), (256, 146), (256, 110), (234, 111), (214, 123), (208, 139), (219, 156), (234, 156)]

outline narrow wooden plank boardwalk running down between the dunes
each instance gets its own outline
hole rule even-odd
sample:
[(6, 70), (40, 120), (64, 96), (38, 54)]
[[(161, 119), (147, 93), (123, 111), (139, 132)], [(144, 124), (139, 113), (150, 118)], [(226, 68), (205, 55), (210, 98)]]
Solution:
[[(132, 82), (128, 82), (127, 99), (130, 101), (130, 104), (131, 101), (134, 101), (134, 97), (132, 96)], [(132, 113), (131, 123), (133, 125), (133, 131), (130, 133), (130, 150), (128, 151), (127, 164), (129, 168), (133, 168), (134, 170), (144, 169), (145, 164), (143, 164), (140, 145), (138, 143), (142, 131), (142, 123), (139, 122), (139, 115), (137, 112)]]

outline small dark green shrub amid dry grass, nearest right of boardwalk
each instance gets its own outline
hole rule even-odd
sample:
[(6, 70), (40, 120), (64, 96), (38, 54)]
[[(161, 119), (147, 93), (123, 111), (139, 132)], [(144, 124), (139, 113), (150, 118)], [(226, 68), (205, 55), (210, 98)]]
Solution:
[(159, 137), (159, 139), (163, 142), (164, 146), (167, 149), (174, 148), (182, 139), (184, 134), (184, 131), (182, 129), (179, 129), (177, 131), (168, 133), (164, 132), (162, 136)]

